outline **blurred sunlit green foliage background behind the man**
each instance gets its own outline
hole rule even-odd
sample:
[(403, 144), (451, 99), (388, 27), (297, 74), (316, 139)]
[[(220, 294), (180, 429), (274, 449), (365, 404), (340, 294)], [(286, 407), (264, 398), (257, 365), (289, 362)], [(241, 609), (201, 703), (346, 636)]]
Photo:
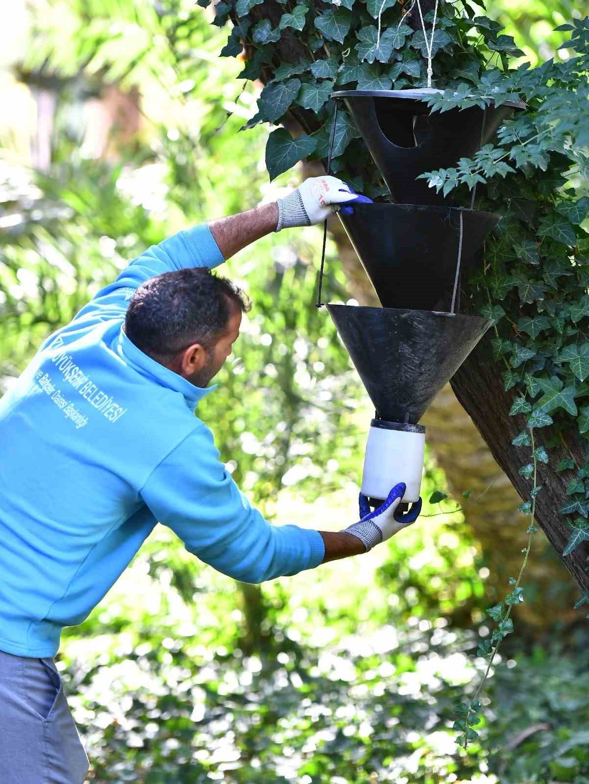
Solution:
[[(487, 13), (537, 64), (566, 56), (552, 31), (584, 5), (489, 0)], [(239, 132), (259, 86), (220, 58), (227, 31), (212, 20), (184, 0), (11, 3), (0, 30), (3, 390), (147, 245), (298, 183), (297, 171), (268, 183), (266, 128)], [(338, 530), (357, 518), (371, 410), (313, 304), (320, 250), (319, 230), (289, 230), (227, 263), (254, 307), (198, 413), (267, 517)], [(350, 300), (331, 242), (327, 269), (330, 299)], [(446, 489), (428, 457), (424, 499)], [(556, 613), (525, 626), (514, 613), (481, 743), (456, 747), (452, 706), (474, 690), (485, 608), (501, 590), (469, 525), (478, 497), (464, 492), (464, 512), (426, 503), (387, 546), (261, 589), (156, 528), (64, 635), (58, 666), (89, 780), (587, 784), (589, 635), (567, 604), (566, 623)]]

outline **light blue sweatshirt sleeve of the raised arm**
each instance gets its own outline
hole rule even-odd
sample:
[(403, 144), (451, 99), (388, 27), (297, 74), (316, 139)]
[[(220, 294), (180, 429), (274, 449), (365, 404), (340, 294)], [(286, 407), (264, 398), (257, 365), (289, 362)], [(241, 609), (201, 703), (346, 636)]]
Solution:
[(141, 256), (129, 263), (113, 283), (100, 289), (80, 310), (74, 321), (120, 318), (125, 314), (135, 289), (144, 281), (163, 272), (183, 270), (187, 267), (212, 269), (223, 262), (223, 254), (206, 223), (179, 231), (158, 245), (151, 245)]

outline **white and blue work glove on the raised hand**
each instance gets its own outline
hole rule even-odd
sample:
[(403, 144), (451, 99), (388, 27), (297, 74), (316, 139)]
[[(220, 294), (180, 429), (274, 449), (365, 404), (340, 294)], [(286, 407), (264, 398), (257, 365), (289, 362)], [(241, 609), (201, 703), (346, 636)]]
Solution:
[(372, 199), (357, 194), (337, 177), (309, 177), (292, 194), (278, 199), (276, 231), (293, 226), (314, 226), (322, 223), (336, 209), (344, 215), (351, 215), (353, 204), (372, 204)]

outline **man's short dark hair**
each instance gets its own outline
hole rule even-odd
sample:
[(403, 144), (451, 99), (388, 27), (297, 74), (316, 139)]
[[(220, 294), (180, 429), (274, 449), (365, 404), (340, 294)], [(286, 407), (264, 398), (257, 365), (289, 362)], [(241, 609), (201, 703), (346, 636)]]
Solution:
[(213, 347), (227, 329), (231, 303), (251, 304), (241, 289), (205, 267), (164, 272), (133, 294), (125, 333), (144, 354), (170, 358), (192, 343)]

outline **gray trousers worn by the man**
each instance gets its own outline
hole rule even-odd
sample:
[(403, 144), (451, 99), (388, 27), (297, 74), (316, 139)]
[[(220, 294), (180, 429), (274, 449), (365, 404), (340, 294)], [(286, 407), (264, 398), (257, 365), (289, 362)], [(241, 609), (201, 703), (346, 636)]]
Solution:
[(87, 772), (53, 659), (0, 651), (0, 782), (83, 784)]

